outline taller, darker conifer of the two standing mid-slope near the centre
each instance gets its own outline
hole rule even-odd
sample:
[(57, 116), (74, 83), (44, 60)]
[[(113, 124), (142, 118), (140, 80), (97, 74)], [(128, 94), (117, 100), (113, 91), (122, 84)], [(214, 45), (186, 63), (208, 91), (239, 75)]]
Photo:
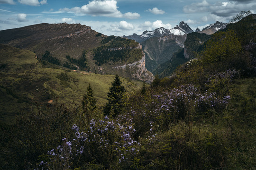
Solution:
[(118, 75), (115, 76), (114, 82), (110, 87), (107, 100), (109, 101), (104, 107), (104, 114), (115, 117), (122, 113), (126, 104), (126, 90), (122, 85)]

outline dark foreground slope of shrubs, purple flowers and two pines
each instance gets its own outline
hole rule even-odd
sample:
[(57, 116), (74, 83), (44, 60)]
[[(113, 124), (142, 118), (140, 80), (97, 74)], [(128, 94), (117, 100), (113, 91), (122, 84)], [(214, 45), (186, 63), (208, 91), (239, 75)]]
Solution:
[(129, 98), (116, 76), (104, 109), (90, 85), (81, 103), (21, 113), (1, 127), (1, 168), (255, 169), (256, 39), (238, 31), (213, 34), (197, 59)]

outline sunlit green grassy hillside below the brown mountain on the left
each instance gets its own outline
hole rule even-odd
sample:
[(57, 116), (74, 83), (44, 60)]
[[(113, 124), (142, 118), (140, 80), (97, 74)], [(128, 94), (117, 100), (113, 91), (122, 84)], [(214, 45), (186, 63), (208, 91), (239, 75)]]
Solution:
[[(82, 101), (87, 86), (91, 84), (100, 106), (107, 102), (107, 93), (113, 75), (100, 75), (73, 71), (55, 66), (45, 68), (35, 58), (36, 54), (18, 48), (0, 45), (0, 121), (9, 122), (23, 108), (29, 110), (36, 102), (76, 103)], [(121, 78), (129, 93), (142, 87), (142, 82)]]

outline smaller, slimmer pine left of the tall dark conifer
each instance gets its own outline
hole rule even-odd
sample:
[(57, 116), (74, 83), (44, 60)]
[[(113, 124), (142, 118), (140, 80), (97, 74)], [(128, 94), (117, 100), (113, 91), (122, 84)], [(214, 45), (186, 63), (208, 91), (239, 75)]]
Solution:
[(82, 110), (87, 118), (90, 117), (91, 112), (97, 108), (96, 99), (93, 96), (93, 90), (91, 84), (87, 87), (87, 92), (83, 96)]

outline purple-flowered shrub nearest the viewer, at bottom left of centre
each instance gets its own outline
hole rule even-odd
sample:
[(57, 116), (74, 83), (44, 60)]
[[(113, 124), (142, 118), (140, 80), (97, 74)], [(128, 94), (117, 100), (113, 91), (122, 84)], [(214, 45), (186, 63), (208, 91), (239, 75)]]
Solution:
[(105, 152), (105, 155), (113, 148), (120, 162), (126, 160), (130, 153), (137, 154), (140, 143), (132, 137), (136, 131), (132, 126), (132, 120), (126, 119), (126, 124), (120, 124), (119, 119), (121, 117), (110, 120), (107, 116), (100, 120), (91, 119), (84, 132), (80, 132), (79, 127), (74, 124), (73, 139), (64, 138), (62, 145), (48, 152), (51, 163), (56, 163), (57, 160), (59, 164), (65, 165), (84, 152), (91, 153), (90, 149), (95, 147), (100, 149), (101, 153)]

